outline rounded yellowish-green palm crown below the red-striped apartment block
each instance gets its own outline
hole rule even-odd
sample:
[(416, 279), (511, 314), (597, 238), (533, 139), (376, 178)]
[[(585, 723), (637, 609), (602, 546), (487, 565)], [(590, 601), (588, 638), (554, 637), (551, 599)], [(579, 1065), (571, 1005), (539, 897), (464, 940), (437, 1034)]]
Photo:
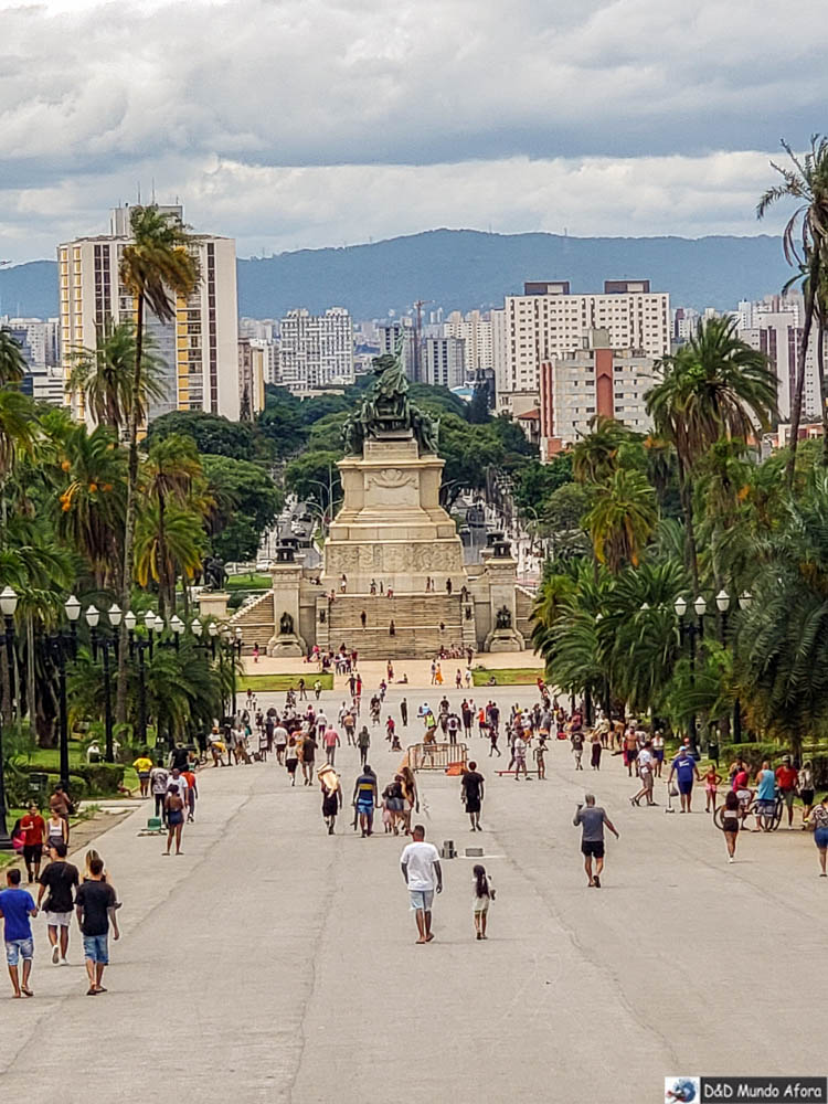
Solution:
[(619, 468), (595, 491), (584, 518), (598, 563), (617, 575), (625, 563), (637, 566), (656, 528), (656, 492), (640, 471)]

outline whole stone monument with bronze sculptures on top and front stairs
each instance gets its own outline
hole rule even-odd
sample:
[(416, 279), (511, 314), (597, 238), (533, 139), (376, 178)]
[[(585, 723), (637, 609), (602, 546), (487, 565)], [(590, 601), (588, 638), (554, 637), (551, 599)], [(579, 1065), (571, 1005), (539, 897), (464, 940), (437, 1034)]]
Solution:
[(272, 567), (273, 591), (232, 624), (245, 640), (267, 639), (270, 655), (315, 644), (382, 659), (521, 650), (508, 541), (498, 534), (482, 563), (465, 564), (455, 522), (439, 502), (439, 423), (411, 402), (402, 349), (376, 358), (374, 376), (343, 427), (343, 501), (321, 570), (306, 569), (285, 546)]

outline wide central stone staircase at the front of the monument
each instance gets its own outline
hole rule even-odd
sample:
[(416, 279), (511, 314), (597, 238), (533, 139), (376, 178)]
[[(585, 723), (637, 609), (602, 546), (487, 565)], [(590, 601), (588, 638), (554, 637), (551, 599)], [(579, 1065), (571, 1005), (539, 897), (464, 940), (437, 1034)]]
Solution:
[[(365, 613), (365, 627), (361, 614)], [(390, 633), (394, 622), (394, 635)], [(328, 607), (328, 641), (364, 659), (431, 659), (440, 647), (476, 649), (475, 623), (457, 594), (337, 594)], [(440, 629), (440, 624), (445, 628)]]

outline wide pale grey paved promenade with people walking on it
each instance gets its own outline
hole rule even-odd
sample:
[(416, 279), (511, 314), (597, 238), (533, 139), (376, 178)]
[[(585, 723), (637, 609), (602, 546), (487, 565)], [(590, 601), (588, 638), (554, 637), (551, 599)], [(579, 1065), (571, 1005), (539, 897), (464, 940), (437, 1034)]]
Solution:
[[(402, 692), (388, 699), (397, 718)], [(341, 697), (322, 696), (329, 714)], [(406, 697), (415, 714), (439, 694)], [(506, 712), (534, 691), (496, 700)], [(403, 743), (417, 733), (410, 721)], [(381, 788), (399, 764), (383, 736), (372, 731), (370, 754)], [(137, 836), (141, 813), (97, 842), (124, 901), (108, 994), (84, 996), (76, 928), (72, 967), (53, 968), (34, 921), (35, 999), (0, 988), (3, 1097), (643, 1104), (662, 1100), (666, 1074), (824, 1073), (828, 883), (805, 832), (743, 834), (729, 866), (702, 794), (694, 815), (667, 816), (630, 808), (618, 757), (576, 774), (553, 741), (548, 781), (516, 783), (496, 776), (508, 752), (491, 760), (477, 736), (470, 751), (485, 832), (469, 832), (459, 782), (442, 775), (418, 776), (428, 810), (415, 819), (460, 854), (485, 847), (488, 942), (471, 920), (480, 860), (444, 861), (436, 940), (416, 946), (402, 838), (380, 825), (361, 839), (349, 807), (329, 837), (319, 789), (291, 789), (273, 761), (205, 768), (183, 856)], [(337, 766), (350, 800), (357, 753), (340, 750)], [(584, 788), (620, 831), (599, 891), (571, 824)]]

